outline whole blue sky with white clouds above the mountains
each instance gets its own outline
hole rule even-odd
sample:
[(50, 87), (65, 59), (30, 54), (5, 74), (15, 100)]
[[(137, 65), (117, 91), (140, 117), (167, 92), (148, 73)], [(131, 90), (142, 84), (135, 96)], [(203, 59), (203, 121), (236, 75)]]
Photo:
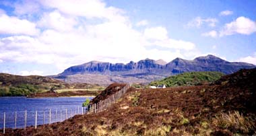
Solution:
[(0, 72), (208, 54), (256, 65), (255, 1), (0, 1)]

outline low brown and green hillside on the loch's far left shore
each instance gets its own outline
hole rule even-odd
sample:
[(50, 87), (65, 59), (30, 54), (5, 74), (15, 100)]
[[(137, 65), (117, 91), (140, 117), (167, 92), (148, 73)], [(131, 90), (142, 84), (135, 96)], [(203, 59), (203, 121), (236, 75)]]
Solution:
[[(65, 83), (50, 77), (38, 75), (20, 76), (0, 73), (0, 96), (29, 96), (42, 92), (55, 92), (62, 89), (90, 89), (97, 85), (87, 83)], [(47, 96), (47, 94), (45, 94)]]

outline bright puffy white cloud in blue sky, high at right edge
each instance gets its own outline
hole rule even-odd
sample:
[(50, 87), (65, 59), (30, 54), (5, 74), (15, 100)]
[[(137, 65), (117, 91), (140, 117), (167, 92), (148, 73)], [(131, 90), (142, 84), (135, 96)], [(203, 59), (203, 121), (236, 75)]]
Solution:
[(232, 34), (253, 34), (256, 32), (256, 22), (243, 16), (236, 18), (233, 22), (225, 24), (224, 29), (220, 31), (220, 36)]

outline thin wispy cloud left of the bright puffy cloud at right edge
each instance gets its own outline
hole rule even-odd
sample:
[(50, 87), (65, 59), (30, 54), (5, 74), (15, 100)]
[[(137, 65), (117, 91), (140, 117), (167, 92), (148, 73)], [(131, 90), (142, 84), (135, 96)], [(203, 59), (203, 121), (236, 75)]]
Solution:
[(200, 28), (204, 24), (207, 24), (207, 26), (215, 27), (217, 22), (218, 22), (218, 20), (216, 18), (203, 19), (201, 17), (197, 17), (197, 18), (194, 18), (193, 20), (191, 20), (190, 22), (188, 22), (187, 26)]

